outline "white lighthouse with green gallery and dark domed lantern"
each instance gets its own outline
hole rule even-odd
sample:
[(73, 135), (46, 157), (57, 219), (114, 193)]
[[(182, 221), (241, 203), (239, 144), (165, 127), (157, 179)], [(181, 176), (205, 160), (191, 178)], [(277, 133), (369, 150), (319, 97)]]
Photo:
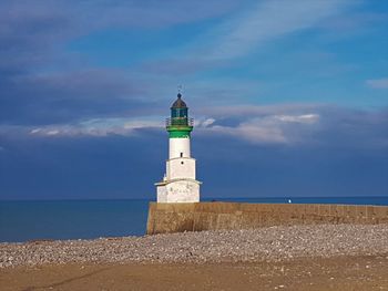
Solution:
[(156, 183), (157, 202), (198, 202), (201, 181), (195, 177), (195, 159), (191, 156), (190, 139), (194, 121), (177, 94), (166, 119), (169, 159), (163, 180)]

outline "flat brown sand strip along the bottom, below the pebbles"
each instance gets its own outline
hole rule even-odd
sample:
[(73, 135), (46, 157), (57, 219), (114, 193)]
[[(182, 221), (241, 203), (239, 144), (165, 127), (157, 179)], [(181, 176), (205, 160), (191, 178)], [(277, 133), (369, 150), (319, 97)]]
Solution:
[(388, 290), (388, 253), (251, 263), (65, 263), (0, 269), (7, 290)]

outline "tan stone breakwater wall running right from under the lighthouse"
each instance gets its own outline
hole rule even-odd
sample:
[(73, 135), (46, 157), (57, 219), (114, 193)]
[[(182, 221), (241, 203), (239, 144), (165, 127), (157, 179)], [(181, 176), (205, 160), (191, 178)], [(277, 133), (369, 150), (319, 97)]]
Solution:
[(312, 224), (388, 224), (388, 206), (150, 202), (147, 235)]

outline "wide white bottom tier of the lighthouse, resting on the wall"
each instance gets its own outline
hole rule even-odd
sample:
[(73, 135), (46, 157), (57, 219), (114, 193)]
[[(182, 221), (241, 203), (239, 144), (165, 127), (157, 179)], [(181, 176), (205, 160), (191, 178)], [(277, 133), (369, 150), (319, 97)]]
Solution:
[(156, 183), (157, 202), (198, 202), (201, 181), (174, 179)]

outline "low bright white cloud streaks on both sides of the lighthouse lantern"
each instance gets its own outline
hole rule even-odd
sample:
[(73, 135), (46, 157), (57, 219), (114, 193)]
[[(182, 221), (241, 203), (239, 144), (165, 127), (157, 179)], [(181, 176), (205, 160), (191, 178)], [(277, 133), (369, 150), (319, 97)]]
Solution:
[[(213, 111), (218, 116), (233, 117), (236, 115), (224, 114), (229, 112), (226, 107)], [(304, 112), (304, 113), (300, 113)], [(215, 117), (200, 117), (195, 127), (198, 134), (229, 135), (243, 138), (252, 143), (285, 144), (297, 142), (298, 135), (295, 128), (314, 125), (319, 121), (316, 113), (306, 113), (300, 106), (242, 106), (234, 111), (242, 119), (234, 126), (225, 126)], [(279, 114), (282, 113), (282, 114)], [(285, 114), (286, 113), (286, 114)], [(222, 117), (219, 117), (222, 119)], [(160, 116), (132, 118), (95, 118), (75, 124), (47, 125), (29, 129), (30, 135), (35, 136), (109, 136), (109, 135), (133, 135), (136, 129), (160, 128), (164, 124)]]

